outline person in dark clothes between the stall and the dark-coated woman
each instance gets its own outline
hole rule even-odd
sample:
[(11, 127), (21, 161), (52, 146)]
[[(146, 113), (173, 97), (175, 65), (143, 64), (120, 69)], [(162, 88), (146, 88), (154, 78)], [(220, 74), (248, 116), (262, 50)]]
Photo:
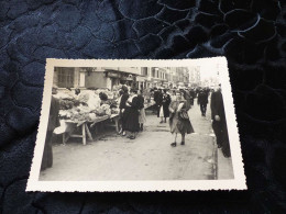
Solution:
[(122, 95), (119, 99), (119, 124), (121, 125), (121, 129), (119, 131), (119, 134), (122, 134), (122, 136), (125, 136), (125, 124), (127, 124), (127, 101), (129, 99), (128, 88), (125, 86), (122, 86)]

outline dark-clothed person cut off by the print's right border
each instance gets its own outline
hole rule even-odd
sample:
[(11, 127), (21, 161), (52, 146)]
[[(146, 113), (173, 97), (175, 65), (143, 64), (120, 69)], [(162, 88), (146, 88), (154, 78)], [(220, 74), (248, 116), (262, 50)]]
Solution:
[(223, 100), (221, 94), (221, 88), (219, 87), (211, 94), (210, 101), (212, 128), (217, 137), (217, 145), (222, 148), (224, 157), (230, 157), (230, 143), (228, 135), (228, 126), (226, 121), (226, 113), (223, 106)]

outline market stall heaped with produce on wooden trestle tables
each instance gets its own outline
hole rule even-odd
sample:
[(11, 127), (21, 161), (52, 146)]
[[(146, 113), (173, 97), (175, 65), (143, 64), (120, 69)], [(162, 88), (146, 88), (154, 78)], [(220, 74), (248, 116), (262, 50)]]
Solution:
[[(103, 94), (103, 95), (102, 95)], [(59, 100), (61, 126), (55, 134), (63, 134), (63, 144), (69, 138), (82, 138), (86, 145), (87, 137), (94, 140), (90, 127), (112, 120), (118, 129), (117, 95), (107, 89), (84, 90), (78, 95), (72, 91), (62, 90), (55, 95)], [(106, 97), (106, 99), (101, 99)], [(77, 134), (75, 134), (77, 132)]]

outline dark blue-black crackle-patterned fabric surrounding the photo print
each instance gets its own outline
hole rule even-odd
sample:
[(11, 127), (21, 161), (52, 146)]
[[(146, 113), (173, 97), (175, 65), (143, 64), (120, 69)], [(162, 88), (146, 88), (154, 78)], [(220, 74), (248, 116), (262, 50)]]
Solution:
[[(0, 213), (283, 213), (286, 1), (0, 2)], [(226, 56), (248, 191), (26, 193), (45, 58)]]

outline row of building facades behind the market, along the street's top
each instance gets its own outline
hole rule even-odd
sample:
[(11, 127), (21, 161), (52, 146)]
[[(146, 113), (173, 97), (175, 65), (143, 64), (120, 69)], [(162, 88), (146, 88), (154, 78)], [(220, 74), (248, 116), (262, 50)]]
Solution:
[[(197, 68), (196, 68), (197, 69)], [(187, 67), (56, 67), (58, 88), (107, 88), (127, 85), (138, 89), (189, 87), (199, 81), (199, 69)]]

